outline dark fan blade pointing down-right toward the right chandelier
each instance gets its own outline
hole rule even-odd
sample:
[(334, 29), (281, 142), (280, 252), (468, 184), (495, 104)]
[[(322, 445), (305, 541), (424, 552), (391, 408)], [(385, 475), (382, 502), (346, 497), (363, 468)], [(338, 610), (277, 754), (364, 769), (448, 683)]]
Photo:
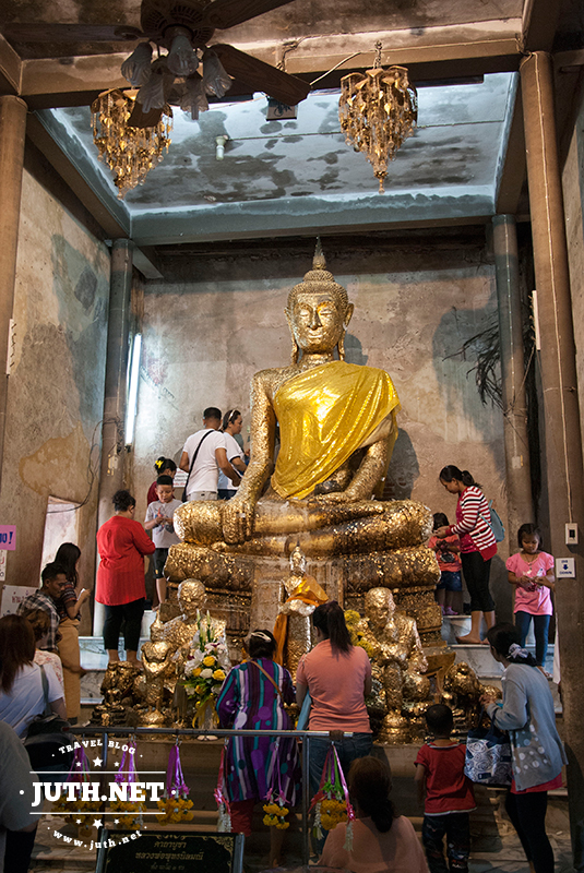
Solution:
[(213, 46), (213, 51), (229, 75), (245, 82), (254, 91), (263, 91), (270, 97), (288, 106), (296, 106), (308, 96), (310, 91), (308, 82), (302, 82), (295, 75), (277, 70), (270, 63), (246, 55), (245, 51), (239, 51), (239, 49), (223, 43)]

